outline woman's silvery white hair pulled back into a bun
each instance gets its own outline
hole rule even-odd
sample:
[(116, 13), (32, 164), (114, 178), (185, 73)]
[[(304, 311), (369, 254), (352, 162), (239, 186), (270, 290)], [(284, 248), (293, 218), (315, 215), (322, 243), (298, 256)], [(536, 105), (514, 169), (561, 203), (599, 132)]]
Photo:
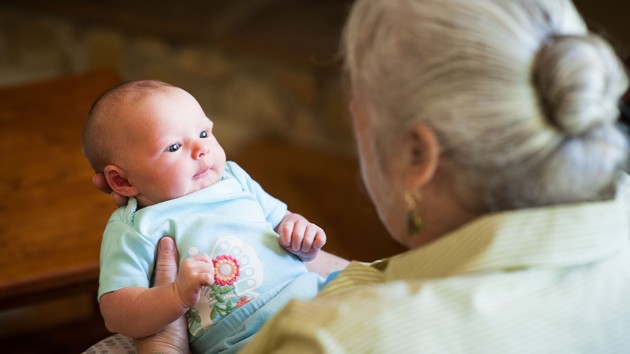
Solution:
[(382, 159), (423, 122), (486, 210), (610, 198), (628, 86), (569, 0), (357, 0), (344, 33)]

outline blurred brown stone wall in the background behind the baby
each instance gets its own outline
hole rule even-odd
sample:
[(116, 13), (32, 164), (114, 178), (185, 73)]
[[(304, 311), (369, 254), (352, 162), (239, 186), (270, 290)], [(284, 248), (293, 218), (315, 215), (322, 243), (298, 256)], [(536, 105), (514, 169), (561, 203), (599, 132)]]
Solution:
[(0, 85), (98, 69), (186, 89), (216, 122), (228, 154), (262, 138), (354, 153), (346, 89), (332, 60), (301, 62), (0, 5)]

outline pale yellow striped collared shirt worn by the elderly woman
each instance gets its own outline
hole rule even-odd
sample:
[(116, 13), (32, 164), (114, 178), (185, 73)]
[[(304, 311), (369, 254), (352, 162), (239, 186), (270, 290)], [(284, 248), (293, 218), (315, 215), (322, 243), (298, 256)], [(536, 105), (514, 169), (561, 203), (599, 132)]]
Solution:
[(353, 262), (245, 353), (628, 353), (630, 188), (484, 216), (420, 249)]

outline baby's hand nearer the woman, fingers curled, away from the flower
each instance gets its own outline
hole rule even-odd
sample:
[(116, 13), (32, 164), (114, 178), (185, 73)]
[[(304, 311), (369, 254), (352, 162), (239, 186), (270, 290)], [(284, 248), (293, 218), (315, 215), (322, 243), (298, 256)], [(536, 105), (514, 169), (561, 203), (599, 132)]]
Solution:
[(278, 242), (287, 251), (308, 262), (326, 244), (326, 233), (302, 215), (287, 213), (278, 226)]

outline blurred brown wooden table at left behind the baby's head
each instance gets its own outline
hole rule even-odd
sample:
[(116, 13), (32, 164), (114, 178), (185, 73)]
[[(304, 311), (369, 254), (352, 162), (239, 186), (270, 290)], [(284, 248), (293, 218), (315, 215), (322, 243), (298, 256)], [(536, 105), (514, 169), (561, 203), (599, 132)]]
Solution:
[(91, 183), (81, 131), (110, 72), (0, 88), (0, 309), (96, 289), (114, 210)]

